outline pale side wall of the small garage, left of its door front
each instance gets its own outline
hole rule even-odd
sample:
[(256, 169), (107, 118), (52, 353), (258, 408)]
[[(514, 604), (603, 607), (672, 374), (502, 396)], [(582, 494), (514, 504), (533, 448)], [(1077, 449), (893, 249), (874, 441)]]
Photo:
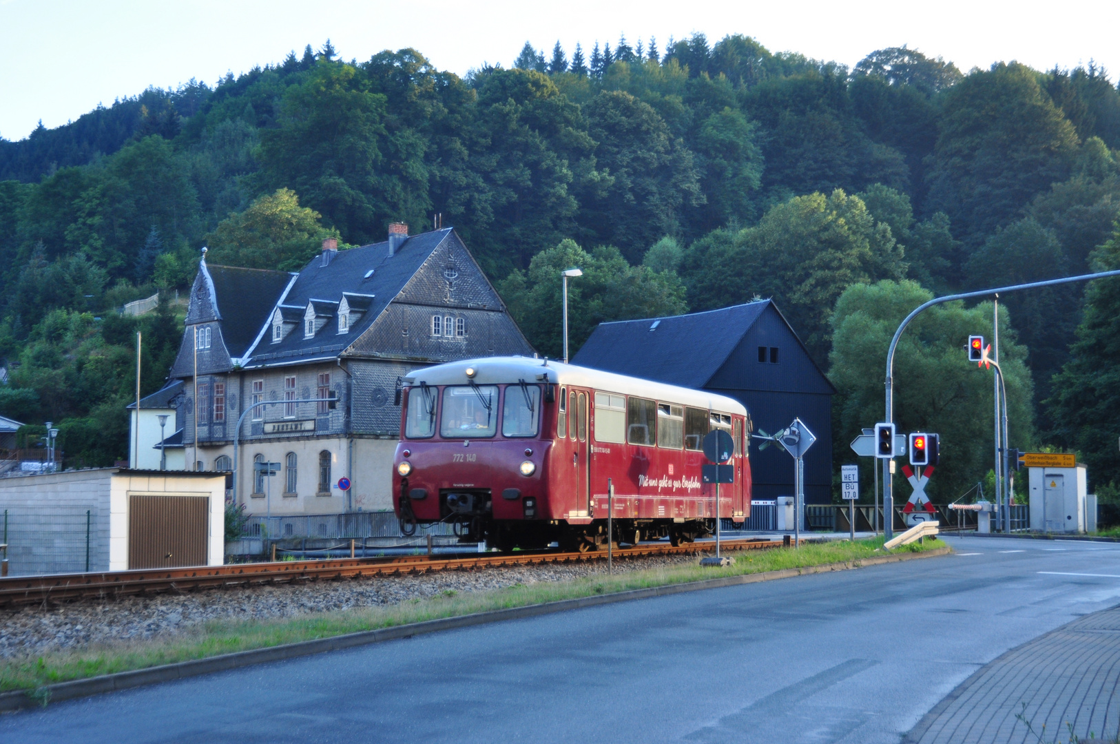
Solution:
[(97, 539), (97, 510), (81, 506), (11, 506), (3, 510), (9, 576), (68, 574), (108, 568)]

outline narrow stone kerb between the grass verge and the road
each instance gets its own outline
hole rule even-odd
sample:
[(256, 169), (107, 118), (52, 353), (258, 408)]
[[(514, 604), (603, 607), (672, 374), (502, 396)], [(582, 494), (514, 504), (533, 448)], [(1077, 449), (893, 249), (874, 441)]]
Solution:
[[(806, 576), (812, 574), (825, 574), (830, 571), (850, 570), (864, 568), (866, 566), (879, 566), (881, 564), (893, 564), (902, 560), (915, 558), (935, 558), (952, 552), (951, 548), (936, 548), (924, 552), (906, 552), (860, 560), (846, 560), (834, 564), (822, 564), (820, 566), (806, 566), (803, 568), (784, 568), (775, 571), (763, 571), (760, 574), (744, 574), (740, 576), (725, 576), (722, 578), (703, 579), (699, 582), (685, 582), (681, 584), (668, 584), (664, 586), (653, 586), (644, 589), (629, 589), (627, 592), (614, 592), (610, 594), (597, 594), (589, 597), (577, 597), (573, 599), (560, 599), (557, 602), (545, 602), (543, 604), (525, 605), (522, 607), (510, 607), (506, 610), (491, 610), (470, 615), (458, 615), (455, 617), (440, 617), (408, 625), (394, 625), (392, 627), (380, 627), (372, 631), (358, 631), (345, 635), (334, 635), (330, 638), (315, 639), (312, 641), (298, 641), (282, 645), (272, 645), (264, 649), (251, 649), (249, 651), (237, 651), (235, 653), (224, 653), (206, 659), (193, 659), (148, 669), (136, 669), (132, 671), (102, 675), (88, 679), (75, 679), (68, 682), (57, 682), (45, 685), (34, 691), (13, 690), (0, 692), (0, 713), (9, 713), (21, 708), (45, 706), (49, 701), (69, 700), (90, 695), (125, 690), (141, 685), (153, 685), (157, 682), (169, 682), (176, 679), (208, 675), (215, 671), (225, 671), (250, 664), (264, 663), (269, 661), (280, 661), (293, 659), (311, 653), (323, 653), (324, 651), (338, 651), (357, 645), (380, 643), (396, 639), (412, 638), (421, 633), (435, 633), (438, 631), (452, 630), (457, 627), (468, 627), (470, 625), (483, 625), (486, 623), (500, 622), (503, 620), (517, 620), (522, 617), (535, 617), (566, 610), (578, 610), (581, 607), (594, 607), (597, 605), (613, 604), (615, 602), (628, 602), (631, 599), (646, 599), (650, 597), (669, 596), (682, 594), (684, 592), (698, 592), (702, 589), (715, 589), (726, 586), (737, 586), (740, 584), (757, 584), (760, 582), (773, 582), (781, 578), (792, 578), (794, 576)], [(971, 679), (971, 677), (969, 678)]]

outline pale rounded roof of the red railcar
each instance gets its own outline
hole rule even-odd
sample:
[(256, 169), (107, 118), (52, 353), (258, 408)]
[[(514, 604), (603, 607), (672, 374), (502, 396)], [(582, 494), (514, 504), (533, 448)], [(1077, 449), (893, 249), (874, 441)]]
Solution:
[(587, 366), (564, 364), (556, 360), (549, 360), (545, 366), (544, 360), (528, 356), (486, 356), (437, 364), (409, 372), (404, 376), (404, 384), (414, 385), (420, 382), (430, 385), (466, 384), (466, 369), (468, 366), (478, 370), (474, 378), (478, 384), (506, 384), (517, 382), (517, 380), (535, 383), (542, 381), (540, 375), (548, 373), (550, 382), (558, 382), (564, 385), (580, 385), (604, 392), (655, 398), (696, 408), (711, 408), (724, 413), (737, 413), (739, 416), (746, 416), (747, 413), (747, 409), (743, 407), (743, 403), (734, 398), (718, 396), (707, 390), (681, 388), (665, 384), (664, 382), (654, 382), (625, 374), (592, 370)]

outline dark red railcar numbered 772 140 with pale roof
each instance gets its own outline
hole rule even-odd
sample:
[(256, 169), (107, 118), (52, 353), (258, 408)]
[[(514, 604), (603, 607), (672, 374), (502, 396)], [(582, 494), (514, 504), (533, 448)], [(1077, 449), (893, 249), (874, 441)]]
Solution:
[(735, 440), (719, 515), (750, 514), (749, 417), (731, 398), (498, 356), (412, 372), (401, 403), (393, 506), (407, 531), (446, 521), (502, 549), (595, 549), (609, 483), (615, 540), (693, 540), (715, 529), (716, 487), (701, 478), (713, 428)]

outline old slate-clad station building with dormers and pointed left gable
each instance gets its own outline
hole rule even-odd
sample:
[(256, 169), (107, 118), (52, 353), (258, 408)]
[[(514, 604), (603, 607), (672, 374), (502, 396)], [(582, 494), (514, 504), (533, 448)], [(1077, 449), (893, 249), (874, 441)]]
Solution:
[[(325, 241), (292, 273), (199, 266), (165, 388), (181, 385), (169, 444), (188, 469), (236, 466), (231, 497), (252, 514), (391, 509), (401, 379), (533, 353), (454, 229), (409, 236), (393, 224), (388, 238), (345, 251)], [(158, 437), (140, 449), (153, 445), (158, 456)], [(258, 462), (279, 472), (264, 476)]]

